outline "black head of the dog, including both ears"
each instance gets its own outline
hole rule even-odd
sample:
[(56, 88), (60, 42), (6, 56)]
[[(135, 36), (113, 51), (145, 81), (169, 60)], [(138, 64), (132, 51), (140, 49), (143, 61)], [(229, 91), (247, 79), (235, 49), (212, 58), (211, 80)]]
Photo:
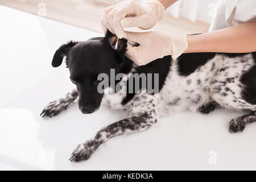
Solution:
[[(103, 38), (92, 38), (84, 42), (68, 42), (55, 52), (53, 67), (59, 67), (66, 57), (71, 81), (79, 91), (79, 108), (82, 113), (93, 113), (100, 107), (103, 93), (97, 91), (100, 73), (110, 77), (110, 69), (115, 74), (131, 69), (131, 63), (125, 56), (127, 40), (119, 39), (118, 47), (114, 49), (117, 36), (109, 31)], [(110, 79), (109, 79), (110, 82)]]

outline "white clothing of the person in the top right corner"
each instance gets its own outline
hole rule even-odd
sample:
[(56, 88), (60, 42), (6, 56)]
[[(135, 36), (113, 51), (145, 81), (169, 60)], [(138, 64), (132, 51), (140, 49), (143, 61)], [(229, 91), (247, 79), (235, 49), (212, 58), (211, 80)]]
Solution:
[(219, 0), (209, 31), (256, 20), (255, 0)]

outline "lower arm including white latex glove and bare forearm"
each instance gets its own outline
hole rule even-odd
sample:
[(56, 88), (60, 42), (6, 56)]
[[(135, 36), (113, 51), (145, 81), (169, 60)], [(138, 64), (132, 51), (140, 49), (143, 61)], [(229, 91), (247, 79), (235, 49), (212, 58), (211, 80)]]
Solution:
[(199, 35), (166, 35), (162, 32), (127, 32), (126, 39), (140, 46), (127, 46), (127, 55), (137, 65), (163, 56), (176, 59), (181, 53), (256, 51), (256, 21)]

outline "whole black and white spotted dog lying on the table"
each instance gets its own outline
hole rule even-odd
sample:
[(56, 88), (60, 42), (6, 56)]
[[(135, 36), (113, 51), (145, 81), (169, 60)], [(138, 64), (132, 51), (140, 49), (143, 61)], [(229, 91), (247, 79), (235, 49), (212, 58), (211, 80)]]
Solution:
[[(115, 49), (116, 41), (117, 37), (107, 32), (104, 38), (64, 44), (53, 56), (53, 67), (59, 67), (66, 57), (70, 79), (77, 89), (50, 102), (41, 113), (43, 117), (53, 117), (77, 97), (82, 113), (93, 113), (104, 100), (110, 108), (125, 110), (130, 115), (80, 144), (69, 160), (86, 160), (106, 140), (158, 126), (161, 116), (179, 111), (209, 113), (217, 107), (250, 110), (250, 114), (230, 121), (229, 131), (233, 133), (256, 121), (256, 52), (184, 53), (176, 60), (165, 56), (138, 67), (126, 56), (127, 40), (119, 40)], [(126, 75), (159, 73), (159, 92), (98, 93), (97, 76), (100, 73), (110, 76), (110, 69)]]

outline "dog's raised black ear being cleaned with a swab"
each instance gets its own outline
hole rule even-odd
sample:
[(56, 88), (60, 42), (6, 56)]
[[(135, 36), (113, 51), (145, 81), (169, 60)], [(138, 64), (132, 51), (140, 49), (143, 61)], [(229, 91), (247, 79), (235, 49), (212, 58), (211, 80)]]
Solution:
[(125, 53), (127, 48), (127, 40), (126, 39), (119, 39), (117, 48), (115, 48), (115, 44), (117, 43), (117, 36), (112, 34), (109, 30), (106, 32), (105, 40), (110, 46), (117, 50), (118, 52)]

